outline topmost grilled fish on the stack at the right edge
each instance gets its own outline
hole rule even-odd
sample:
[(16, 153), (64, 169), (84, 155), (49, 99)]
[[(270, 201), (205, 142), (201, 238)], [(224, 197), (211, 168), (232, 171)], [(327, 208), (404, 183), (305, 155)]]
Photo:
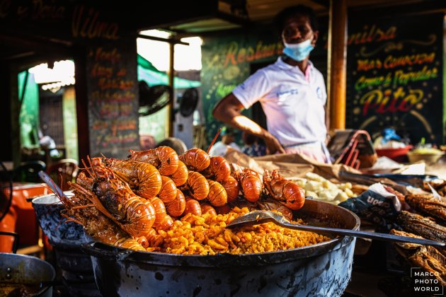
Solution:
[(433, 197), (432, 194), (409, 194), (406, 202), (416, 211), (446, 222), (446, 202)]

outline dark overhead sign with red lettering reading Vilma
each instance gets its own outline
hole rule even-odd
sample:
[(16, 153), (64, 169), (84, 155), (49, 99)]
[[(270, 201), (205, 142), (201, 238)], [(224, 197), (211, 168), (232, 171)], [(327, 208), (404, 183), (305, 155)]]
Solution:
[(126, 25), (118, 23), (120, 13), (101, 8), (98, 1), (0, 0), (3, 28), (11, 33), (57, 37), (59, 41), (118, 40)]

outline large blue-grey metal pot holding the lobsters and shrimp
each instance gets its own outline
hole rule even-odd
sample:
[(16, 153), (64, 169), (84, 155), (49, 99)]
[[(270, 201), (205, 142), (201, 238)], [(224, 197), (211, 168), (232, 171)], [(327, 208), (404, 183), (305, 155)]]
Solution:
[[(308, 200), (296, 217), (358, 230), (358, 216)], [(355, 238), (246, 255), (172, 255), (89, 243), (104, 296), (341, 296), (350, 280)]]

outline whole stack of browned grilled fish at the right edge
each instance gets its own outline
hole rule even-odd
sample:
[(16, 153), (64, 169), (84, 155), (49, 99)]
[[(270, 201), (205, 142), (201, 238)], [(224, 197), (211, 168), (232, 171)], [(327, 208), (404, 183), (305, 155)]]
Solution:
[[(404, 231), (391, 230), (396, 235), (446, 241), (446, 202), (432, 194), (408, 194), (406, 203), (414, 212), (401, 211), (397, 217)], [(421, 267), (446, 285), (446, 249), (413, 243), (395, 243), (399, 252), (411, 265)]]

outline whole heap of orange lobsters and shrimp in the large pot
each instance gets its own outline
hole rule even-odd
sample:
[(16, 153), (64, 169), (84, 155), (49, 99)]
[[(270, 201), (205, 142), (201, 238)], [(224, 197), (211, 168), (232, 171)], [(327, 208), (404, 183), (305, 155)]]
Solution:
[[(224, 228), (227, 223), (250, 209), (275, 209), (291, 220), (292, 210), (304, 205), (304, 190), (274, 170), (263, 175), (247, 168), (231, 170), (226, 159), (210, 157), (200, 148), (179, 156), (161, 146), (130, 151), (127, 160), (88, 158), (69, 185), (74, 196), (59, 197), (63, 216), (83, 225), (94, 239), (122, 248), (213, 255), (328, 240), (315, 233), (311, 238), (304, 232), (285, 233), (267, 223), (258, 226), (258, 233), (265, 240), (273, 238), (271, 232), (280, 233), (276, 237), (283, 244), (250, 249), (253, 230), (232, 231)], [(299, 236), (306, 239), (296, 240)]]

